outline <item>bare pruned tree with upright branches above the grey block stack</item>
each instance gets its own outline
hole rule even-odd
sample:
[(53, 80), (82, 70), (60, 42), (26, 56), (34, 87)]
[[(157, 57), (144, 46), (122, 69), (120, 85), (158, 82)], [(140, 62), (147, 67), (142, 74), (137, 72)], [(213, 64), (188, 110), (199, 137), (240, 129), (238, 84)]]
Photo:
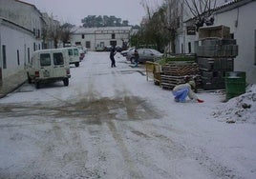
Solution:
[(211, 15), (217, 6), (217, 0), (184, 0), (184, 4), (196, 20), (197, 29), (203, 27), (204, 23), (207, 26), (213, 25), (214, 18)]

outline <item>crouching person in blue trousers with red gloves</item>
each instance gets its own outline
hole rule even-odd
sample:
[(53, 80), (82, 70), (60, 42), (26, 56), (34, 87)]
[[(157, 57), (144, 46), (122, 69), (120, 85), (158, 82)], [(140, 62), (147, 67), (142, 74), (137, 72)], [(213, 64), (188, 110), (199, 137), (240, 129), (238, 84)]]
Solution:
[(188, 96), (191, 100), (196, 100), (199, 103), (203, 103), (203, 100), (199, 99), (198, 96), (195, 94), (195, 92), (192, 89), (196, 88), (196, 83), (194, 80), (191, 80), (185, 84), (181, 84), (176, 86), (173, 89), (173, 95), (175, 102), (186, 102), (185, 99)]

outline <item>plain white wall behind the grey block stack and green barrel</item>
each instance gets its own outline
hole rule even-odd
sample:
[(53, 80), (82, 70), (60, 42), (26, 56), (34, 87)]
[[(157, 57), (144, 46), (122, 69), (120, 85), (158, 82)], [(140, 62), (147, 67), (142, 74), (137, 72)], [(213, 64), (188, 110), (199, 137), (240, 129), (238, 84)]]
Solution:
[(233, 10), (215, 15), (215, 25), (230, 28), (239, 46), (239, 55), (234, 61), (234, 70), (246, 72), (246, 82), (256, 84), (256, 1)]

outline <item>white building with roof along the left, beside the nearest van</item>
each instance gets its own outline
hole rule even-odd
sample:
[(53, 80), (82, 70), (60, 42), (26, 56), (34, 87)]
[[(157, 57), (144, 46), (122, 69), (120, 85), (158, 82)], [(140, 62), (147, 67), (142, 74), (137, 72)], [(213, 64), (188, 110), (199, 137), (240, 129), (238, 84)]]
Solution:
[(18, 0), (0, 0), (0, 84), (18, 75), (26, 79), (25, 64), (32, 51), (42, 49), (41, 13)]

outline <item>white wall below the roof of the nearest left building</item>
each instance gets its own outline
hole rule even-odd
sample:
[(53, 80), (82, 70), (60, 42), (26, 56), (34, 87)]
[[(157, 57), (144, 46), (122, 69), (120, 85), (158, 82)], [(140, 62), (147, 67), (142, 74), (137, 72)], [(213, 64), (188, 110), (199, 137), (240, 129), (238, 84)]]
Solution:
[[(25, 79), (25, 64), (32, 56), (33, 41), (31, 31), (0, 20), (0, 68), (3, 82), (20, 71), (24, 71), (23, 79)], [(4, 67), (3, 47), (6, 49), (6, 67)]]

